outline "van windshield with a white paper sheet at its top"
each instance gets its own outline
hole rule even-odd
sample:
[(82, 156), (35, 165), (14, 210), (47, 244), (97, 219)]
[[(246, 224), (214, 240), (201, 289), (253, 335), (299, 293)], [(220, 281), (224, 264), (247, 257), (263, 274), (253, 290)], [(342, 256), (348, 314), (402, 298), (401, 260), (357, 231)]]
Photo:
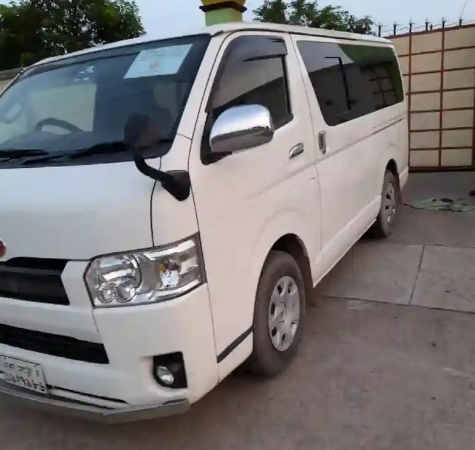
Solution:
[(115, 48), (27, 70), (0, 97), (0, 168), (133, 159), (124, 129), (134, 113), (160, 124), (171, 147), (209, 42), (195, 36)]

